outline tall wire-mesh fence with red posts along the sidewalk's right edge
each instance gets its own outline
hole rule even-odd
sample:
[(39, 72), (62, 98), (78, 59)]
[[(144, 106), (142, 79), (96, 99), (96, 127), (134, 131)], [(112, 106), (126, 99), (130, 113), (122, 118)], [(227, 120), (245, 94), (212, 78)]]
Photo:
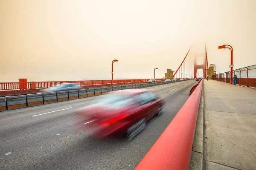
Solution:
[[(237, 85), (256, 88), (256, 65), (233, 70), (233, 76), (235, 74), (237, 76)], [(212, 79), (214, 79), (214, 75), (212, 75)], [(230, 79), (233, 79), (233, 77), (230, 77), (230, 71), (216, 74), (217, 81), (230, 83)]]

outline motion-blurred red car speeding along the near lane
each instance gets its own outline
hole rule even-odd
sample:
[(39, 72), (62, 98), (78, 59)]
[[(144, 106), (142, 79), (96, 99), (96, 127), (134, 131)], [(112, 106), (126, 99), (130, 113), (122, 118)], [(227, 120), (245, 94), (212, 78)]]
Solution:
[(129, 139), (145, 128), (154, 115), (165, 111), (165, 102), (147, 90), (127, 89), (99, 96), (97, 103), (78, 111), (74, 126), (90, 136), (124, 136)]

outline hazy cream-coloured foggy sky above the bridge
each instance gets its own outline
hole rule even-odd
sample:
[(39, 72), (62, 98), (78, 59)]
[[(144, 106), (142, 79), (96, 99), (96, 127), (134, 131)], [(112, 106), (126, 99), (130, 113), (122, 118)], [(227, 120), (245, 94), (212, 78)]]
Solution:
[(256, 64), (256, 0), (0, 0), (0, 82), (164, 77), (189, 46), (217, 73)]

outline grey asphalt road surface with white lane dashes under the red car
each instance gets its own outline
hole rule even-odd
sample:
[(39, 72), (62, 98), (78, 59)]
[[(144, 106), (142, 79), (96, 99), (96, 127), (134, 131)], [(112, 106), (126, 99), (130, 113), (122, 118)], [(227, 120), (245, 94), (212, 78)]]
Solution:
[(90, 105), (97, 96), (0, 112), (0, 169), (133, 170), (196, 83), (190, 80), (146, 88), (166, 99), (166, 113), (154, 116), (131, 141), (93, 139), (70, 128), (76, 119), (71, 113)]

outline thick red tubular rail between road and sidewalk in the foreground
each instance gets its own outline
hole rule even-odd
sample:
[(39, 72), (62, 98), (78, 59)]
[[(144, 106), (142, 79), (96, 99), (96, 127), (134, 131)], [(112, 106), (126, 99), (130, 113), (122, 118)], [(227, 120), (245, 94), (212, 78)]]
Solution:
[(135, 170), (189, 168), (202, 86), (201, 80)]

